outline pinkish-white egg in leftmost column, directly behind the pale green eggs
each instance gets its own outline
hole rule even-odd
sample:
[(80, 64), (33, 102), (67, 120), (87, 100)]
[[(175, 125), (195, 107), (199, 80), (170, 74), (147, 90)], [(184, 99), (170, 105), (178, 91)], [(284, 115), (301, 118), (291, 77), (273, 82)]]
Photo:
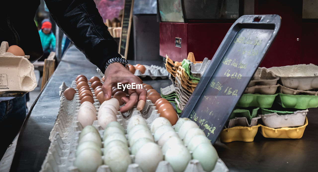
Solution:
[(90, 107), (84, 106), (79, 109), (77, 120), (83, 127), (92, 125), (94, 120), (97, 120), (96, 113)]

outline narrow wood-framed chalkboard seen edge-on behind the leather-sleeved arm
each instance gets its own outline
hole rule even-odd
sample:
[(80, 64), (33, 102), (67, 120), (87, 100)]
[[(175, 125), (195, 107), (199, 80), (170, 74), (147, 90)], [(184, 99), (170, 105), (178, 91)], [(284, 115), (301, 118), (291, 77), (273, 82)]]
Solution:
[(123, 16), (121, 21), (121, 37), (119, 41), (118, 53), (127, 59), (128, 43), (131, 28), (131, 18), (133, 15), (134, 0), (125, 0)]

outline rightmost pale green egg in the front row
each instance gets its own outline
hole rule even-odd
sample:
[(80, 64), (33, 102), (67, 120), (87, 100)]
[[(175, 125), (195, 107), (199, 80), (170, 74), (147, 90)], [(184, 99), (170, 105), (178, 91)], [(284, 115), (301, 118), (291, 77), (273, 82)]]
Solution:
[(202, 165), (204, 171), (212, 171), (218, 161), (218, 153), (209, 143), (202, 143), (194, 149), (193, 159), (196, 159)]

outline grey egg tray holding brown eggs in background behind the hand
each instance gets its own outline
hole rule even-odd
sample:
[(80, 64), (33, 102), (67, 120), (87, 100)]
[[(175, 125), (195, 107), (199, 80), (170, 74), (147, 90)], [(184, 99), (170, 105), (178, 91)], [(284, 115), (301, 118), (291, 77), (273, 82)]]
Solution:
[[(168, 77), (168, 72), (164, 67), (160, 67), (157, 65), (144, 65), (146, 67), (146, 71), (144, 73), (140, 72), (140, 70), (136, 69), (134, 75), (139, 77), (149, 76), (151, 79), (162, 78), (165, 79)], [(96, 69), (100, 76), (104, 76), (104, 73), (100, 71), (99, 68)]]

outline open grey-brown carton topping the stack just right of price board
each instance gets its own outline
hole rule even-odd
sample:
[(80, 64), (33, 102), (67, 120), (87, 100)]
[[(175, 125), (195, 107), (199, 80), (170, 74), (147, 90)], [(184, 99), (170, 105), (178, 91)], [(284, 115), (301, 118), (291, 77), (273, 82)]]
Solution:
[(247, 87), (255, 85), (274, 86), (278, 80), (279, 77), (275, 76), (273, 72), (268, 71), (265, 67), (259, 67)]

